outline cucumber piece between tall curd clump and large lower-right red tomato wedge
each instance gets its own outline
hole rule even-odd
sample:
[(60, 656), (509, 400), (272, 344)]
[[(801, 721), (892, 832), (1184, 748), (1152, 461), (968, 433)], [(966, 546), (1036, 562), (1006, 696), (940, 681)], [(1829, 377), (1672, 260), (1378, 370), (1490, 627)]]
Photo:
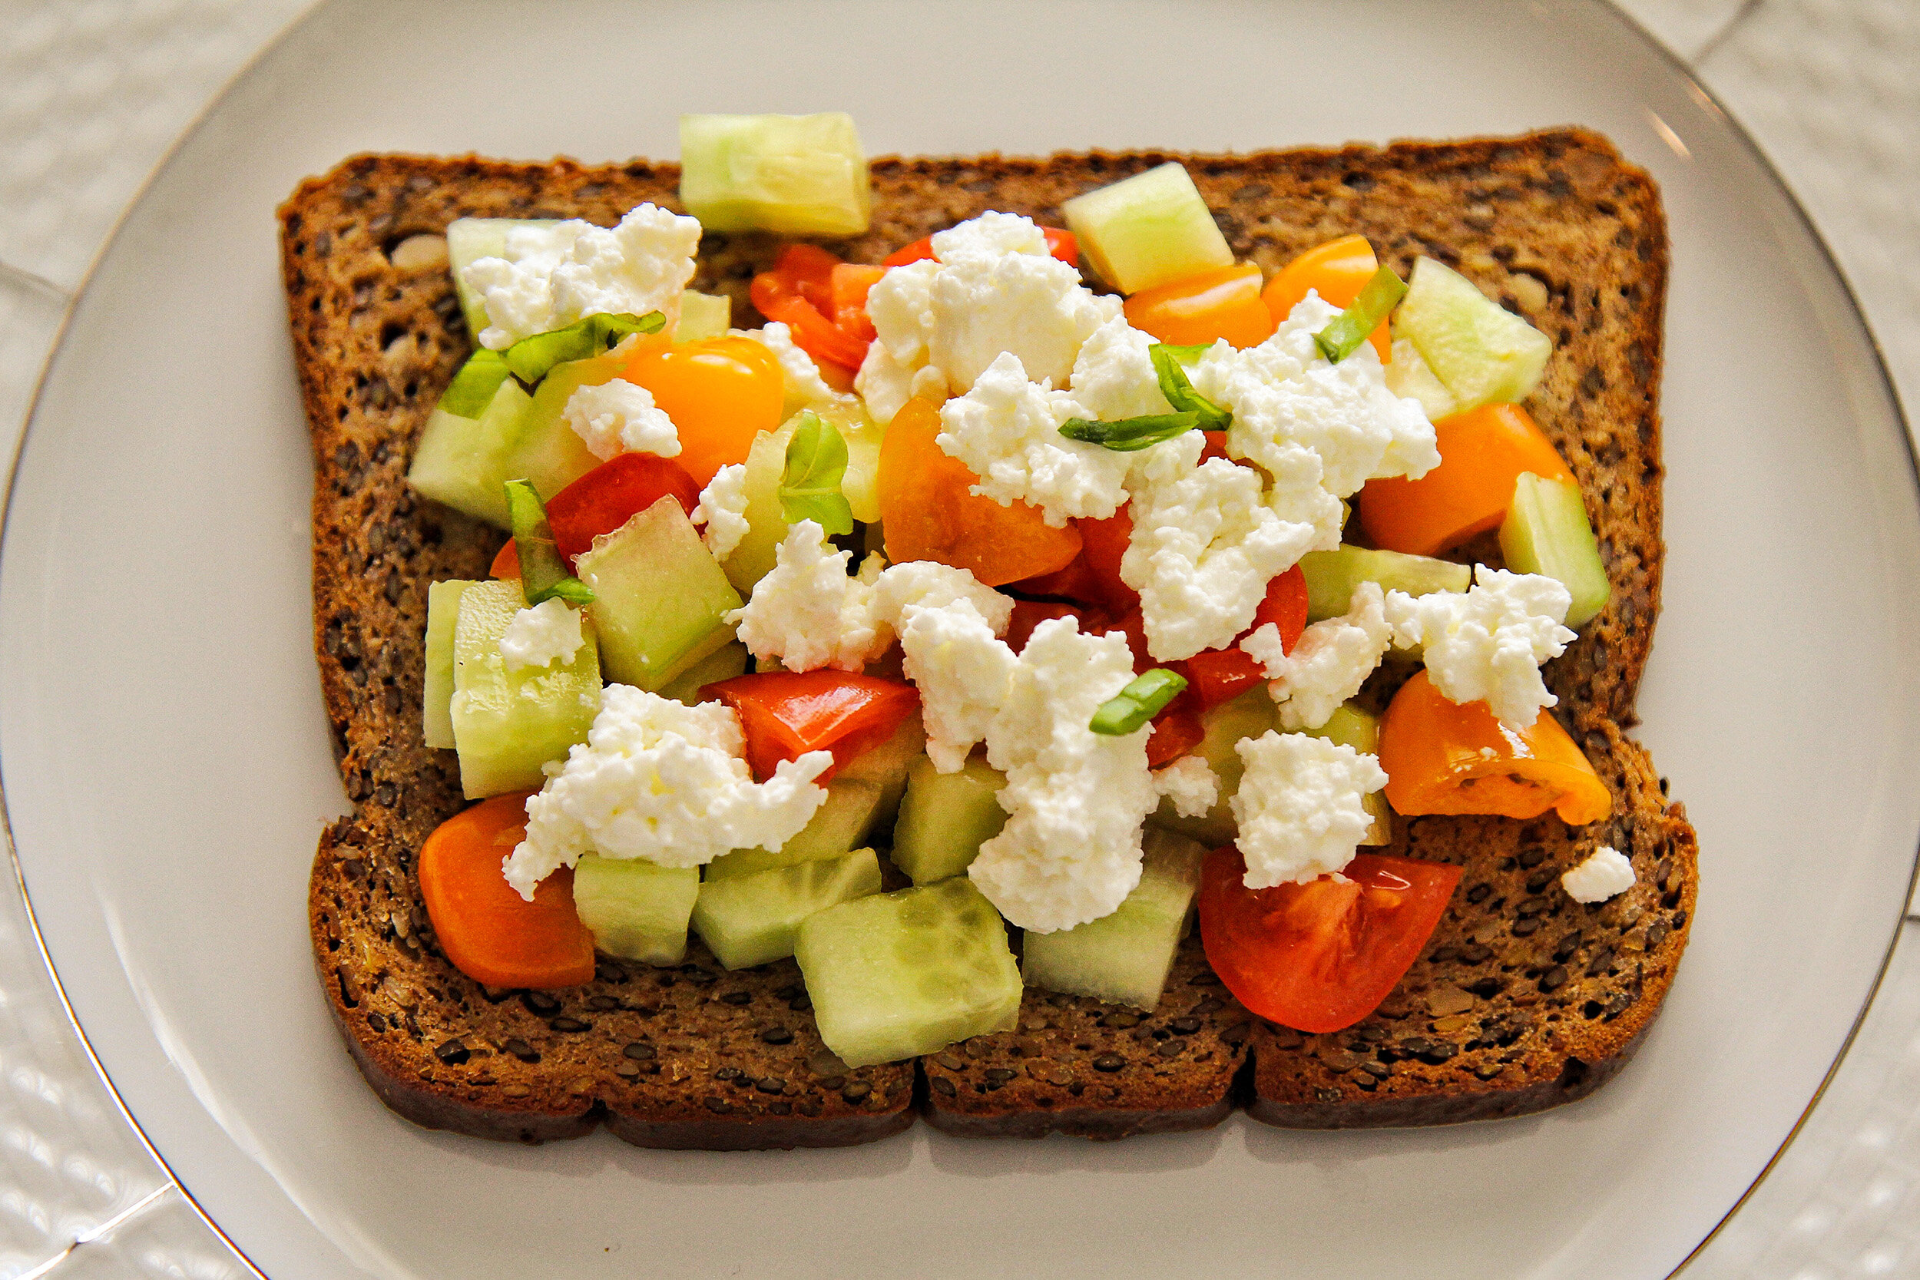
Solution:
[(1148, 829), (1140, 848), (1140, 883), (1110, 915), (1025, 935), (1020, 969), (1027, 986), (1135, 1009), (1160, 1004), (1200, 890), (1206, 844)]

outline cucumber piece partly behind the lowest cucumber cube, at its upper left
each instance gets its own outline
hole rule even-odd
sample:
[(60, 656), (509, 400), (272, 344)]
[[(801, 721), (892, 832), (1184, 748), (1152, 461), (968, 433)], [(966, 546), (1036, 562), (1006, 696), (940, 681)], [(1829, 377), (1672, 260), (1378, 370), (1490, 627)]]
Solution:
[(860, 848), (791, 867), (707, 881), (693, 904), (693, 931), (728, 969), (793, 954), (801, 923), (829, 906), (879, 892), (879, 858)]

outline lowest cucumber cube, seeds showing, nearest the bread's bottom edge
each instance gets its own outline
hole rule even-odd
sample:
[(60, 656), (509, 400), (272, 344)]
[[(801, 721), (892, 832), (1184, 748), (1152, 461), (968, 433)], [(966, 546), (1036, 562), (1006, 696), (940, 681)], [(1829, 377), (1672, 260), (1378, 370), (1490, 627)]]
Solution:
[(849, 1067), (937, 1054), (1020, 1019), (1006, 925), (964, 875), (816, 912), (793, 958), (820, 1038)]

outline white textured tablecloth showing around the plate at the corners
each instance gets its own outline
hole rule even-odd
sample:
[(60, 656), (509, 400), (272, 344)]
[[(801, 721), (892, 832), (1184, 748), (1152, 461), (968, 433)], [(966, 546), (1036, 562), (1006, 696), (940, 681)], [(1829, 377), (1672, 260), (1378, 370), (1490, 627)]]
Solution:
[[(309, 0), (0, 0), (0, 447), (165, 148)], [(1622, 0), (1812, 213), (1920, 407), (1920, 0)], [(1920, 1276), (1920, 923), (1693, 1276)], [(0, 883), (0, 1280), (252, 1274), (121, 1115)]]

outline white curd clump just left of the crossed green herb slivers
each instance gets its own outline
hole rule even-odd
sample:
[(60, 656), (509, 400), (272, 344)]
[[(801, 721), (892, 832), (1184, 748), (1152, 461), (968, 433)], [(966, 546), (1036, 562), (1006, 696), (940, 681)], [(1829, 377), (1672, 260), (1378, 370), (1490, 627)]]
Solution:
[(1073, 516), (1104, 520), (1119, 510), (1140, 457), (1060, 434), (1062, 422), (1085, 416), (1069, 391), (1029, 382), (1020, 357), (1002, 351), (973, 390), (941, 407), (935, 443), (979, 476), (973, 493), (1002, 507), (1031, 503), (1064, 528)]

